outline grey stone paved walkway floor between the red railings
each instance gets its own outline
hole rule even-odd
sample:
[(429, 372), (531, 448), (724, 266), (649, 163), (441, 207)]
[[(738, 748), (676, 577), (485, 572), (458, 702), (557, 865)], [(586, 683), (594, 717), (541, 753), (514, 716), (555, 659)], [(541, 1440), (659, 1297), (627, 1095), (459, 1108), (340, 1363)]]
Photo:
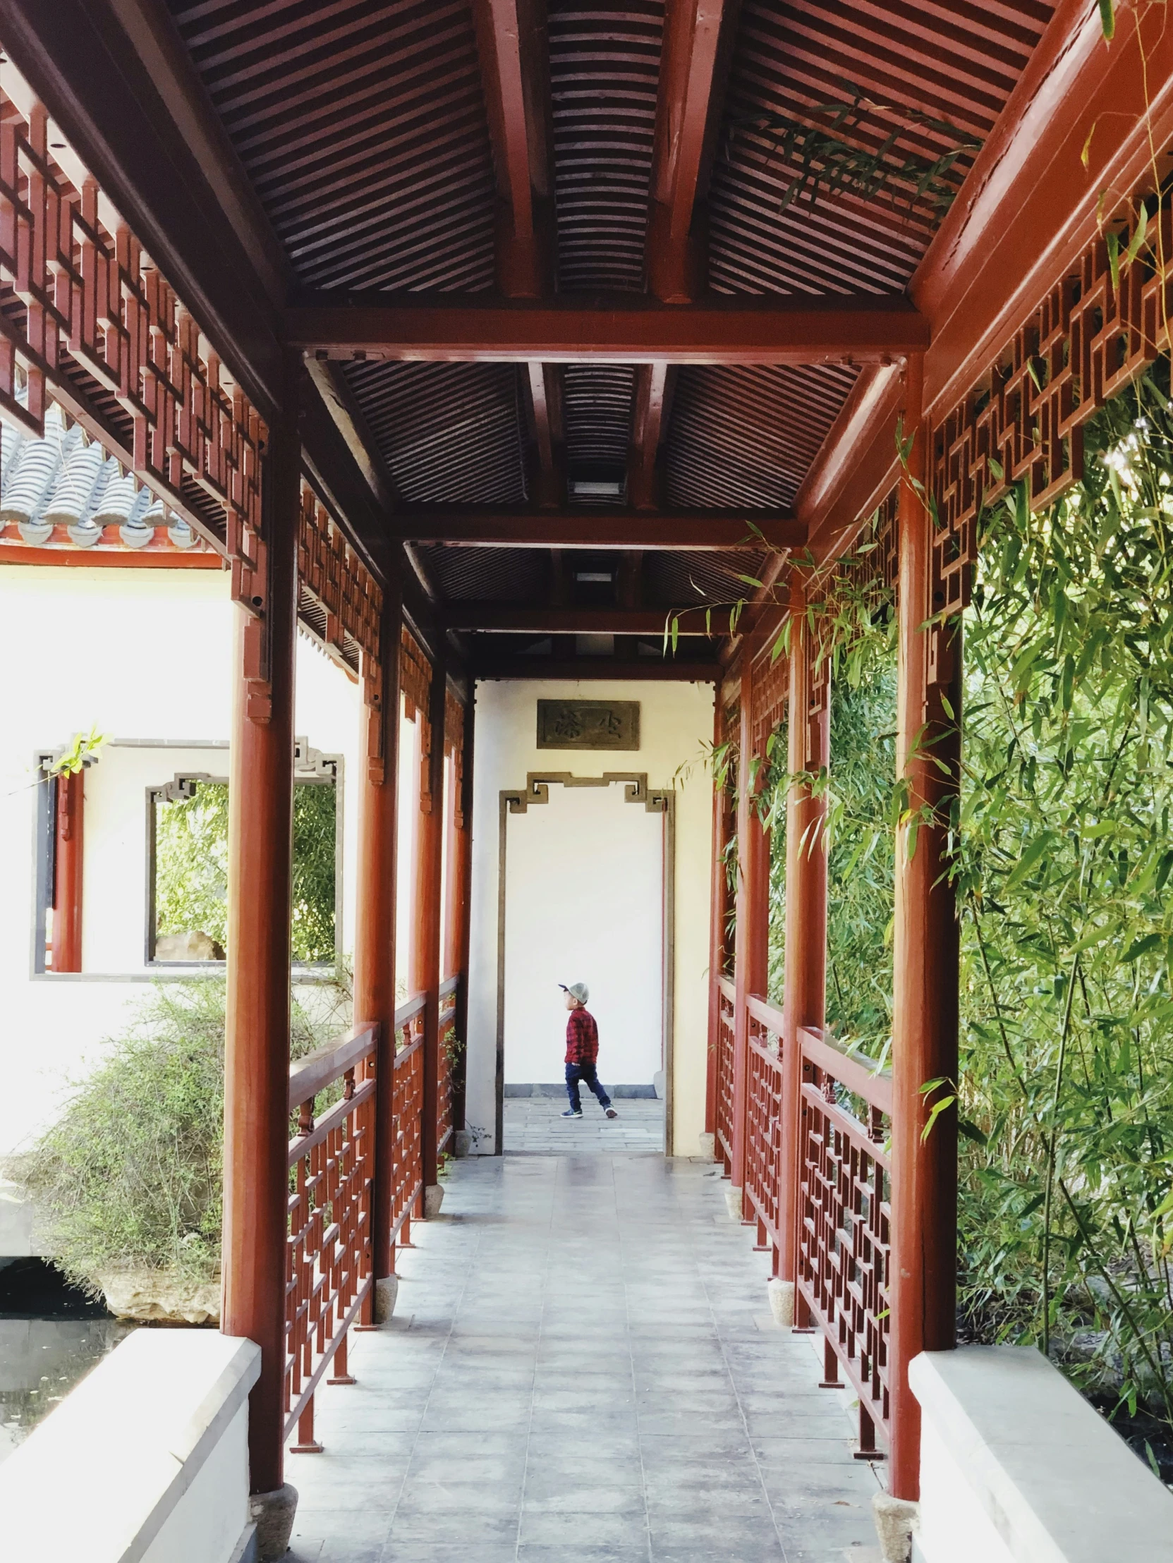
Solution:
[(289, 1563), (876, 1563), (810, 1336), (698, 1161), (458, 1161), (317, 1400)]

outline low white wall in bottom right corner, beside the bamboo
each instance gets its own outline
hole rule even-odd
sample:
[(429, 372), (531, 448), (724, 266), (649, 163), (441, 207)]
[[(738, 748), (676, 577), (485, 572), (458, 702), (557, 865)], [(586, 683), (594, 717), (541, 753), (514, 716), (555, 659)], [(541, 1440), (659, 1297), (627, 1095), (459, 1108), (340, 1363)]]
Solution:
[(1171, 1563), (1173, 1494), (1029, 1346), (923, 1352), (921, 1563)]

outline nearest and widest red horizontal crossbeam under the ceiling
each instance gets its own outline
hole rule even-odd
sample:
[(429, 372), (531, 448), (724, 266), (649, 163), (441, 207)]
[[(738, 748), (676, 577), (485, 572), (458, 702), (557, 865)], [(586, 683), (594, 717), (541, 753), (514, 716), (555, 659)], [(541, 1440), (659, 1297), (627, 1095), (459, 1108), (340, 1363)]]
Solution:
[(317, 295), (286, 309), (291, 345), (319, 356), (430, 363), (821, 364), (888, 363), (929, 345), (902, 297), (874, 294), (660, 305), (638, 295), (594, 302), (424, 299), (339, 303)]

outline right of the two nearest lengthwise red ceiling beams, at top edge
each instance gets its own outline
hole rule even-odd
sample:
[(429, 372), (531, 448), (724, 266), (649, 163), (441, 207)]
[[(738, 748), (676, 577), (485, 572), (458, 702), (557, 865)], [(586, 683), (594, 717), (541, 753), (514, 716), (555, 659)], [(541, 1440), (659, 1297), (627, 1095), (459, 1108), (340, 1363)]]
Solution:
[(721, 120), (738, 0), (666, 0), (647, 216), (647, 288), (665, 303), (708, 280), (704, 197)]

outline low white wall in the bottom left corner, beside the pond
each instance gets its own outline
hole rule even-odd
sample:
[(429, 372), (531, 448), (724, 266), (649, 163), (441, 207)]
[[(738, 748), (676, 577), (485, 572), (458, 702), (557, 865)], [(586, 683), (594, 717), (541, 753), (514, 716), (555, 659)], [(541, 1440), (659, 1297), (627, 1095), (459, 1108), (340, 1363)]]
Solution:
[(0, 1466), (5, 1558), (230, 1563), (249, 1532), (261, 1349), (136, 1330)]

